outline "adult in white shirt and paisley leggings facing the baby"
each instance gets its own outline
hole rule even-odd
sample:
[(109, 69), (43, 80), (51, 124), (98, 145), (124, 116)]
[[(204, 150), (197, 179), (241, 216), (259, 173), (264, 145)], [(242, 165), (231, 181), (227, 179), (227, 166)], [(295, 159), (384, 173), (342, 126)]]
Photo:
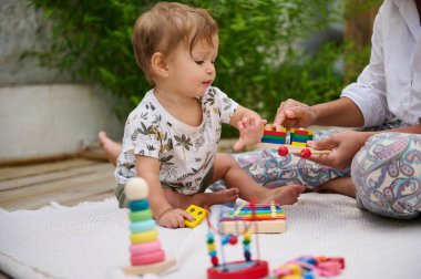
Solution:
[(332, 102), (283, 102), (275, 118), (285, 126), (364, 127), (309, 143), (332, 149), (309, 159), (338, 169), (352, 163), (351, 178), (337, 178), (343, 189), (355, 188), (361, 207), (393, 218), (413, 218), (421, 210), (420, 10), (420, 0), (384, 1), (374, 21), (370, 63), (357, 82)]

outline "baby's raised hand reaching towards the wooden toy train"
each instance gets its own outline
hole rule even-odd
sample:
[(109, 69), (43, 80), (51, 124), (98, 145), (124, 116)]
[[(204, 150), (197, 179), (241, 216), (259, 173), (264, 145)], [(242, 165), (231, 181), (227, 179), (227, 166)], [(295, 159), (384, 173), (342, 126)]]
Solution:
[(239, 138), (233, 148), (239, 151), (246, 144), (259, 142), (264, 134), (263, 126), (266, 123), (267, 121), (260, 117), (243, 117), (238, 121)]

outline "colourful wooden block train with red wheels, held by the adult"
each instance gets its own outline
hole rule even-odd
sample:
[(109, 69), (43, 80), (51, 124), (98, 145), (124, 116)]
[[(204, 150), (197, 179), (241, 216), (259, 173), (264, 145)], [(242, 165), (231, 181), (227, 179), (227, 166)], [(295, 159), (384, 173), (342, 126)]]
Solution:
[[(289, 143), (288, 143), (289, 134)], [(308, 158), (311, 154), (328, 154), (330, 151), (317, 151), (307, 147), (307, 141), (312, 141), (312, 131), (305, 128), (287, 128), (266, 124), (264, 126), (264, 136), (258, 148), (277, 149), (279, 156), (287, 156), (288, 153), (299, 154), (302, 158)]]

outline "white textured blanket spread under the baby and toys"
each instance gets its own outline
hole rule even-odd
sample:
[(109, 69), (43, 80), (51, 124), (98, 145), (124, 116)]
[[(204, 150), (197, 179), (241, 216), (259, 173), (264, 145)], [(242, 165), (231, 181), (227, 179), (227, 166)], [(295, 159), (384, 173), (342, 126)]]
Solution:
[[(213, 223), (220, 208), (212, 207)], [(421, 278), (421, 218), (381, 218), (359, 209), (352, 198), (331, 194), (304, 194), (284, 208), (287, 232), (253, 238), (253, 258), (259, 242), (259, 258), (270, 269), (312, 255), (343, 257), (338, 278)], [(212, 266), (206, 221), (194, 229), (157, 230), (166, 255), (177, 261), (158, 278), (206, 278)], [(0, 268), (16, 278), (127, 278), (121, 267), (129, 265), (129, 237), (127, 210), (113, 198), (74, 207), (0, 209)], [(228, 261), (243, 260), (240, 244), (224, 251)]]

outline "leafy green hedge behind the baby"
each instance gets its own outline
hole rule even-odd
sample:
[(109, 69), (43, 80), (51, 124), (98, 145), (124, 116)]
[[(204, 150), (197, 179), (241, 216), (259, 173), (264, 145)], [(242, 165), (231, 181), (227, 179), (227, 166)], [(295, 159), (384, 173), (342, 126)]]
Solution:
[[(131, 35), (142, 10), (157, 1), (30, 0), (53, 21), (51, 49), (35, 53), (43, 64), (101, 84), (119, 97), (125, 118), (151, 87), (136, 66)], [(312, 104), (337, 97), (343, 76), (335, 63), (343, 45), (316, 53), (298, 42), (341, 20), (333, 0), (179, 1), (208, 9), (219, 24), (216, 86), (271, 121), (281, 100)], [(32, 53), (33, 54), (33, 53)], [(224, 136), (232, 136), (225, 130)]]

